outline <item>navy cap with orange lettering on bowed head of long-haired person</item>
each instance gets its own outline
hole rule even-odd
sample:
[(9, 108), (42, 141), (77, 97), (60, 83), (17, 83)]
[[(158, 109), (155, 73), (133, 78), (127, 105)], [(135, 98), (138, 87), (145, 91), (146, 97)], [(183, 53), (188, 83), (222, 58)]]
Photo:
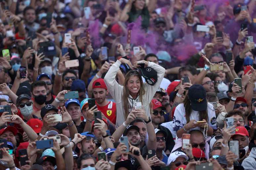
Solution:
[(200, 84), (194, 84), (189, 88), (188, 97), (194, 111), (203, 111), (207, 108), (206, 91)]

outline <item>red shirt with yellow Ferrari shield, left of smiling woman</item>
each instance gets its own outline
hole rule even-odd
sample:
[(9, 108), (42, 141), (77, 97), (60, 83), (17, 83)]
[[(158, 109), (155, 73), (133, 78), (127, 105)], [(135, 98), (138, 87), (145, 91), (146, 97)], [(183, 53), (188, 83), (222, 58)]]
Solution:
[(99, 111), (101, 111), (108, 120), (110, 120), (113, 124), (116, 121), (116, 103), (113, 101), (109, 101), (105, 106), (99, 106), (97, 102), (95, 102)]

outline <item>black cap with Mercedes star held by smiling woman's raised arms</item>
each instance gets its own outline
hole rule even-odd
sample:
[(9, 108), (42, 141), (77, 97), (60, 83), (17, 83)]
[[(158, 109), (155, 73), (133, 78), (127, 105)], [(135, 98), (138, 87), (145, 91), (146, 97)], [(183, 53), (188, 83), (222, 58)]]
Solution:
[(146, 82), (153, 86), (157, 82), (157, 72), (150, 68), (139, 68), (141, 76), (143, 76)]

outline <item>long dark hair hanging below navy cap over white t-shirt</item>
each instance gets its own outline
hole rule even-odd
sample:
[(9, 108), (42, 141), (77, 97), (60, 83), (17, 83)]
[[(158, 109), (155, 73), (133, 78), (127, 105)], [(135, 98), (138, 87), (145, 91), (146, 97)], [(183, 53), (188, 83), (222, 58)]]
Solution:
[[(186, 117), (187, 123), (189, 123), (192, 108), (191, 108), (191, 102), (190, 102), (190, 99), (188, 98), (188, 95), (184, 99), (183, 103), (184, 103), (184, 107), (185, 107), (185, 117)], [(199, 111), (199, 121), (202, 121), (203, 119), (205, 119), (206, 122), (208, 123), (207, 109), (203, 110), (203, 111)]]

